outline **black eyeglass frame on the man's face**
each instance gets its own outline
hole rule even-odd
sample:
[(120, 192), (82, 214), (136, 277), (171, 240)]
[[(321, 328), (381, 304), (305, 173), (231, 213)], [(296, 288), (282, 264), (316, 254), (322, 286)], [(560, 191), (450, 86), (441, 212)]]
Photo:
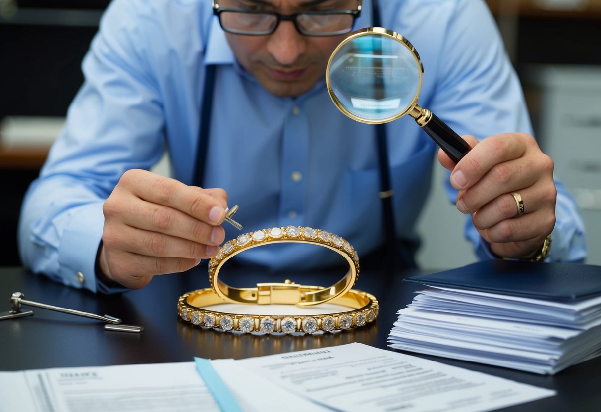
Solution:
[[(221, 13), (224, 13), (224, 12), (240, 13), (240, 14), (270, 14), (272, 16), (275, 16), (277, 18), (277, 21), (276, 21), (275, 25), (273, 26), (273, 28), (269, 31), (240, 32), (240, 31), (236, 31), (236, 30), (224, 27), (223, 23), (221, 22)], [(217, 16), (217, 18), (219, 19), (219, 25), (221, 26), (221, 28), (224, 29), (224, 31), (227, 31), (228, 33), (232, 33), (232, 34), (250, 35), (250, 36), (269, 35), (269, 34), (272, 34), (273, 32), (275, 32), (279, 26), (279, 23), (282, 20), (284, 20), (284, 21), (293, 22), (294, 28), (296, 28), (296, 31), (302, 35), (311, 36), (311, 37), (329, 37), (329, 36), (337, 36), (337, 35), (341, 35), (341, 34), (350, 33), (351, 31), (353, 31), (353, 26), (355, 25), (355, 20), (357, 19), (357, 17), (359, 17), (359, 14), (361, 14), (361, 6), (359, 5), (356, 8), (356, 10), (300, 11), (299, 13), (294, 13), (294, 14), (281, 14), (281, 13), (278, 13), (277, 11), (269, 11), (269, 10), (243, 10), (240, 8), (219, 8), (219, 5), (216, 4), (215, 1), (213, 1), (213, 14), (215, 14), (215, 16)], [(313, 16), (316, 16), (316, 15), (317, 16), (350, 15), (353, 17), (353, 23), (352, 23), (352, 25), (350, 25), (349, 29), (347, 29), (345, 31), (337, 31), (337, 32), (331, 32), (331, 33), (305, 32), (301, 28), (301, 26), (299, 26), (299, 23), (296, 21), (296, 19), (298, 16), (307, 16), (307, 15), (313, 15)]]

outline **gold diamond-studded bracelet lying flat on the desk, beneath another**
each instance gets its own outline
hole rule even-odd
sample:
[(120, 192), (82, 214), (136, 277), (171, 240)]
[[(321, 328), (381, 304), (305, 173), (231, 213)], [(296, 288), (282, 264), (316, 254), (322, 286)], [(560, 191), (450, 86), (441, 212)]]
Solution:
[[(302, 291), (322, 289), (322, 286), (302, 286)], [(217, 312), (207, 306), (230, 303), (224, 301), (213, 289), (197, 289), (180, 296), (177, 301), (178, 315), (194, 325), (237, 330), (243, 333), (294, 332), (314, 333), (318, 331), (346, 330), (365, 326), (373, 322), (378, 314), (378, 302), (374, 295), (351, 289), (330, 303), (352, 308), (351, 311), (323, 315), (242, 315)]]

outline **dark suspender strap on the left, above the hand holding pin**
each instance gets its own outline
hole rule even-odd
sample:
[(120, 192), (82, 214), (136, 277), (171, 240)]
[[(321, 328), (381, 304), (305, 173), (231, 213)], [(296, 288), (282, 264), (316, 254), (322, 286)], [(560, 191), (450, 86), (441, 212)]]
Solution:
[(209, 147), (209, 131), (211, 129), (211, 112), (213, 106), (213, 86), (215, 85), (215, 65), (207, 65), (204, 74), (203, 101), (201, 103), (200, 128), (198, 130), (198, 147), (194, 171), (194, 185), (203, 187), (204, 171), (207, 163)]

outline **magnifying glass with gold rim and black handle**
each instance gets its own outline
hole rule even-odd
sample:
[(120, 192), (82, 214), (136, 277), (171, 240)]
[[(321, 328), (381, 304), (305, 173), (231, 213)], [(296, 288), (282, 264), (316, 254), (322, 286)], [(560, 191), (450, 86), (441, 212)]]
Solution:
[(418, 106), (423, 71), (406, 38), (370, 27), (353, 32), (336, 47), (326, 68), (326, 86), (338, 109), (361, 123), (388, 123), (409, 114), (457, 163), (469, 145), (435, 114)]

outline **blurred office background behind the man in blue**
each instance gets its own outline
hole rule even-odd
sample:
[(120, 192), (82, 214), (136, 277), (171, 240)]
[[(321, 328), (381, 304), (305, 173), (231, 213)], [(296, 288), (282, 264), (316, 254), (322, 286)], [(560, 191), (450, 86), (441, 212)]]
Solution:
[[(82, 83), (81, 59), (110, 0), (0, 0), (0, 265), (19, 265), (16, 224)], [(601, 264), (601, 0), (487, 0), (522, 81), (538, 142), (575, 196), (588, 263)], [(168, 173), (163, 161), (156, 171)], [(442, 193), (444, 169), (418, 222), (423, 268), (475, 260), (464, 216)]]

